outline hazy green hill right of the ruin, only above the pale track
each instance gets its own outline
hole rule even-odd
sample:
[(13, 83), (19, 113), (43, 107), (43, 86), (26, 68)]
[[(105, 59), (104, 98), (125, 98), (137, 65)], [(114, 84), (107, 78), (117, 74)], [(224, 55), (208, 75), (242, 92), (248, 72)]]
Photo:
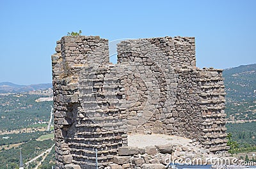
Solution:
[(256, 119), (256, 64), (223, 71), (228, 121)]

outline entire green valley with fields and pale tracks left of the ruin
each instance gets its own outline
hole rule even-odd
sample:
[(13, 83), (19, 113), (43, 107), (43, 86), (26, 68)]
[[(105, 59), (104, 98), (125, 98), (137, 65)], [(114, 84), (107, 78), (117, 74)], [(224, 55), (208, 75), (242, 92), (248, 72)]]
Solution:
[[(19, 148), (22, 149), (23, 162), (26, 163), (45, 154), (54, 144), (53, 127), (47, 131), (47, 125), (52, 126), (52, 101), (44, 101), (44, 98), (51, 100), (51, 97), (52, 91), (49, 90), (0, 94), (0, 168), (6, 168), (7, 165), (8, 168), (19, 166)], [(42, 157), (29, 163), (29, 168), (35, 168), (40, 160)], [(47, 165), (54, 163), (49, 161)]]

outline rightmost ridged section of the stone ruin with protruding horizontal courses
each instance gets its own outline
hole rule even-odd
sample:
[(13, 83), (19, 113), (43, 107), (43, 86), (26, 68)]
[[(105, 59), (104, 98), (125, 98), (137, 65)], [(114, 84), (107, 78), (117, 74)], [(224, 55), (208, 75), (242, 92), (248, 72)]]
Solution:
[(200, 115), (204, 135), (200, 138), (205, 148), (212, 152), (227, 150), (227, 133), (225, 128), (225, 86), (222, 70), (213, 68), (200, 70), (198, 78), (200, 87)]

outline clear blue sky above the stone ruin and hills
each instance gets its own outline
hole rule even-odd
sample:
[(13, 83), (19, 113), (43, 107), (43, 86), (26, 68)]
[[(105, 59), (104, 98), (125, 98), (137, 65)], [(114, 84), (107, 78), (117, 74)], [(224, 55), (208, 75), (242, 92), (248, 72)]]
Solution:
[(256, 62), (256, 1), (0, 1), (0, 82), (51, 82), (56, 41), (71, 31), (122, 38), (195, 36), (196, 65)]

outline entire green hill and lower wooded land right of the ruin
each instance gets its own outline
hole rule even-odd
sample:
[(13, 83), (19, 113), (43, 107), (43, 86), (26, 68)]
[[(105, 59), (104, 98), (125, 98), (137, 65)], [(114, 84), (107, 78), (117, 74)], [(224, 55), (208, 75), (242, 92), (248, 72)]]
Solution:
[(225, 78), (227, 133), (242, 147), (256, 145), (256, 64), (223, 71)]

